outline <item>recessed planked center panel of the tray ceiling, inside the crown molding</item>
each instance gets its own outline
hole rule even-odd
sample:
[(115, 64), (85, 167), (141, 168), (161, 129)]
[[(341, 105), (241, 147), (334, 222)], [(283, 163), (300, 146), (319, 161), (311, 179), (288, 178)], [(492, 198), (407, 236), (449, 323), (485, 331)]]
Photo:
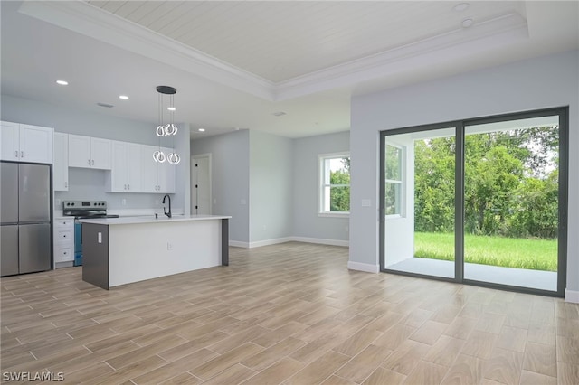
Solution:
[(522, 2), (88, 3), (274, 83), (460, 31), (466, 18), (525, 18)]

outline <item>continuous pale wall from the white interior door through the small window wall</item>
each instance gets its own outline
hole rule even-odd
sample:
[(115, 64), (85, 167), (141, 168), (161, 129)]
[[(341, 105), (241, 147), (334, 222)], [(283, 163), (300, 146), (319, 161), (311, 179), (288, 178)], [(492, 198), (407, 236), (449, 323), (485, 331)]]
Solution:
[(232, 215), (230, 239), (243, 247), (290, 238), (347, 244), (347, 218), (318, 217), (318, 155), (348, 150), (348, 132), (288, 139), (237, 131), (191, 141), (192, 155), (212, 154), (213, 213)]

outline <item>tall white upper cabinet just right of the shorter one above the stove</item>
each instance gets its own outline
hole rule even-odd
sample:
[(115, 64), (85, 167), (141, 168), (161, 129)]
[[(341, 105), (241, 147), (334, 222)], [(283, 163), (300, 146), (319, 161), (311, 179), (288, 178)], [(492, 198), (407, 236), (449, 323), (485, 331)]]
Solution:
[(141, 192), (141, 145), (112, 142), (109, 192)]

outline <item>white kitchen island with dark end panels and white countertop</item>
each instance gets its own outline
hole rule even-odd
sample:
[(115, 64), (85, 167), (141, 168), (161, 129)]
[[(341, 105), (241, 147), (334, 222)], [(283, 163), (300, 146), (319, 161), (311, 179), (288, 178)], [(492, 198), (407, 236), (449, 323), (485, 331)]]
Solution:
[(105, 289), (229, 264), (229, 219), (219, 215), (81, 220), (82, 280)]

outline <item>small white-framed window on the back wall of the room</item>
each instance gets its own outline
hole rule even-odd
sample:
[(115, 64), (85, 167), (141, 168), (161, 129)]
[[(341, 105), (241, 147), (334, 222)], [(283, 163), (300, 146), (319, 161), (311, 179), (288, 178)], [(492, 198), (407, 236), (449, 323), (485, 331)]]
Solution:
[(346, 153), (318, 156), (318, 214), (340, 216), (350, 212), (350, 155)]

